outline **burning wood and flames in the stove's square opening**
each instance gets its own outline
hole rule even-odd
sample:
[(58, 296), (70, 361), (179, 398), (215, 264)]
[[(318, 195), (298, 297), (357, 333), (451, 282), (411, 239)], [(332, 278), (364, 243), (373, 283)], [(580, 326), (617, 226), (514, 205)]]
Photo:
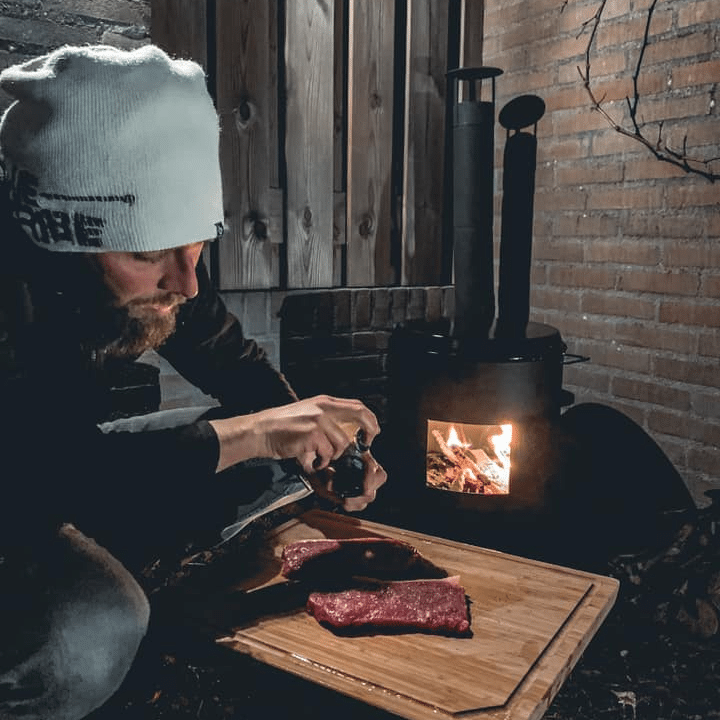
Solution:
[[(445, 428), (446, 437), (442, 432)], [(458, 424), (456, 428), (428, 421), (428, 486), (478, 495), (507, 495), (511, 440), (510, 424)]]

